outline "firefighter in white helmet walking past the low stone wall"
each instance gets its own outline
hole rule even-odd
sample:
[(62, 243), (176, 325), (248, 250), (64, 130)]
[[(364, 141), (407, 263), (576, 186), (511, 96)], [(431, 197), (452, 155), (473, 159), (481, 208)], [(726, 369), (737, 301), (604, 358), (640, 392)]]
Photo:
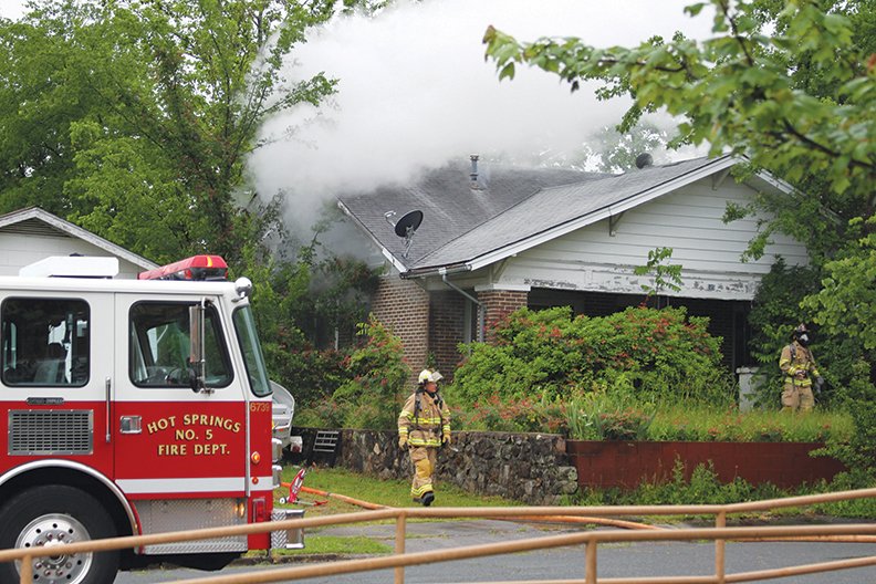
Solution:
[(398, 415), (398, 446), (407, 447), (414, 463), (410, 494), (415, 503), (429, 507), (435, 501), (432, 473), (438, 448), (450, 444), (450, 410), (438, 393), (444, 376), (431, 369), (419, 374), (417, 390)]

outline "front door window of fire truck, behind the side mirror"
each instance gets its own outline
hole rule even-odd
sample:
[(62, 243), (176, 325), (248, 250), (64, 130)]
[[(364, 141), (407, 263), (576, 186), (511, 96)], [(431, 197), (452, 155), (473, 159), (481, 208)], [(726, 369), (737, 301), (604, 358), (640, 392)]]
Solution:
[[(131, 380), (140, 387), (190, 386), (190, 303), (140, 302), (131, 309)], [(204, 322), (207, 387), (231, 383), (231, 366), (216, 309)]]

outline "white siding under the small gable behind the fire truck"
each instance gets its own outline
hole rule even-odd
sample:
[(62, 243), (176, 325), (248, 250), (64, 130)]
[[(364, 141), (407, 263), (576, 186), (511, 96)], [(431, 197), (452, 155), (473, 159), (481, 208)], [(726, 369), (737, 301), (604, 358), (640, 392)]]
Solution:
[[(0, 230), (0, 275), (18, 275), (19, 269), (51, 255), (96, 255), (107, 258), (112, 254), (82, 239), (67, 236), (38, 236)], [(137, 278), (143, 268), (118, 258), (116, 278)]]

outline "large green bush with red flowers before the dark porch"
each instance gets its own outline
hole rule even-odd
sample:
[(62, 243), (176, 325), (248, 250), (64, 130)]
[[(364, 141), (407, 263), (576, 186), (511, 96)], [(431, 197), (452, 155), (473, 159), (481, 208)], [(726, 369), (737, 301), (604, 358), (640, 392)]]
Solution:
[(682, 307), (632, 307), (609, 316), (572, 317), (571, 309), (521, 309), (496, 331), (493, 345), (463, 345), (469, 354), (448, 395), (458, 405), (502, 399), (571, 397), (593, 390), (630, 390), (638, 399), (700, 399), (729, 404), (731, 376), (721, 365), (721, 340), (708, 320)]

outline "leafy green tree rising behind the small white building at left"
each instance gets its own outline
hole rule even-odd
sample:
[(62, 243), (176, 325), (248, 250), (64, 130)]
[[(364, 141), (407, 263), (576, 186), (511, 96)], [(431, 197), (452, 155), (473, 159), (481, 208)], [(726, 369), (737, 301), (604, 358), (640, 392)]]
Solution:
[(0, 21), (0, 210), (40, 205), (157, 261), (236, 261), (259, 238), (236, 197), (260, 124), (335, 88), (282, 60), (354, 4), (371, 6), (43, 0)]

